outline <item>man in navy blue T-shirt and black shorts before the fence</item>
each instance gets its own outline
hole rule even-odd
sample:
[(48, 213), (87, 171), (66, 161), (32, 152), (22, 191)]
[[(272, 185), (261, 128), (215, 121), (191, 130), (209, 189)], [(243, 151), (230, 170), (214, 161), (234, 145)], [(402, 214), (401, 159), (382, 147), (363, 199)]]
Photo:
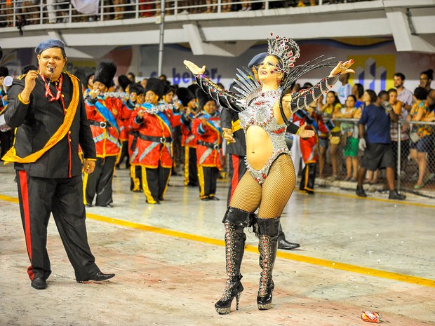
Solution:
[(403, 200), (406, 196), (394, 189), (396, 164), (389, 134), (390, 121), (399, 121), (399, 116), (389, 104), (389, 95), (386, 91), (381, 90), (377, 96), (373, 90), (370, 92), (367, 90), (367, 93), (370, 95), (371, 103), (363, 109), (363, 114), (359, 119), (359, 148), (364, 151), (364, 157), (358, 171), (356, 195), (367, 196), (363, 189), (363, 180), (367, 170), (387, 168), (388, 198)]

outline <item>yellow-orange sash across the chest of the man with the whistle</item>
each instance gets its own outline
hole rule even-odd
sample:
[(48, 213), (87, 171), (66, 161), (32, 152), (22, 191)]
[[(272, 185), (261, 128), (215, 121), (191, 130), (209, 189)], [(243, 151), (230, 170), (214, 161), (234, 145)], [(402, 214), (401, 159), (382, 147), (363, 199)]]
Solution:
[[(72, 100), (69, 103), (69, 106), (67, 108), (67, 114), (65, 114), (65, 119), (60, 125), (59, 129), (56, 130), (55, 134), (51, 136), (51, 138), (48, 140), (48, 142), (45, 144), (45, 146), (42, 149), (39, 149), (39, 151), (36, 151), (26, 157), (21, 158), (18, 156), (15, 152), (15, 146), (11, 147), (9, 151), (3, 156), (3, 161), (5, 161), (5, 164), (17, 162), (17, 163), (34, 163), (36, 160), (38, 160), (41, 156), (48, 151), (48, 149), (51, 149), (55, 144), (57, 144), (60, 140), (62, 140), (65, 135), (67, 135), (69, 128), (71, 128), (72, 121), (74, 120), (74, 116), (76, 115), (77, 107), (79, 106), (79, 80), (76, 79), (75, 76), (71, 76), (72, 81)], [(74, 78), (73, 78), (74, 77)]]

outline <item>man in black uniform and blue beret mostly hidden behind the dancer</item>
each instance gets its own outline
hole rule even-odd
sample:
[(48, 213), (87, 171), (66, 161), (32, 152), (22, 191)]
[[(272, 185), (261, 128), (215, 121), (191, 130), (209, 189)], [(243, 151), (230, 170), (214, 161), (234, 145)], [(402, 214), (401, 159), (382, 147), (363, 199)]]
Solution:
[[(259, 53), (255, 55), (249, 62), (248, 68), (250, 68), (253, 72), (253, 75), (257, 78), (257, 66), (265, 59), (267, 53)], [(230, 88), (230, 90), (235, 91)], [(229, 178), (230, 184), (228, 189), (228, 198), (227, 205), (231, 201), (232, 194), (236, 189), (237, 184), (239, 183), (241, 177), (246, 173), (246, 139), (245, 133), (240, 128), (239, 115), (230, 109), (222, 110), (220, 114), (220, 124), (222, 126), (222, 130), (227, 129), (231, 130), (235, 142), (229, 142), (227, 144), (227, 152), (229, 154)], [(299, 134), (301, 131), (304, 132), (304, 128), (300, 128), (298, 125), (294, 123), (290, 123), (288, 126), (288, 131), (293, 134)], [(308, 130), (307, 130), (308, 131)], [(314, 134), (313, 134), (314, 135)], [(311, 132), (307, 135), (304, 134), (305, 137), (312, 137)], [(278, 238), (278, 248), (284, 250), (292, 250), (300, 247), (299, 243), (290, 243), (286, 240), (286, 235), (284, 234), (281, 225), (279, 226), (279, 238)]]

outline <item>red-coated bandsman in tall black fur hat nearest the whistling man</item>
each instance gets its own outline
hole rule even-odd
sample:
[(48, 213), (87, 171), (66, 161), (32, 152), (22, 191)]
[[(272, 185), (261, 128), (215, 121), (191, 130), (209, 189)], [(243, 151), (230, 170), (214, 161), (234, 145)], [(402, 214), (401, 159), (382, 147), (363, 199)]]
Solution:
[[(102, 61), (95, 70), (93, 90), (86, 97), (86, 114), (91, 125), (97, 162), (95, 171), (85, 175), (83, 189), (85, 205), (91, 206), (96, 195), (95, 205), (112, 207), (112, 179), (116, 158), (121, 151), (119, 137), (119, 119), (125, 114), (126, 108), (121, 97), (107, 92), (116, 73), (113, 62)], [(116, 94), (116, 93), (115, 93)]]

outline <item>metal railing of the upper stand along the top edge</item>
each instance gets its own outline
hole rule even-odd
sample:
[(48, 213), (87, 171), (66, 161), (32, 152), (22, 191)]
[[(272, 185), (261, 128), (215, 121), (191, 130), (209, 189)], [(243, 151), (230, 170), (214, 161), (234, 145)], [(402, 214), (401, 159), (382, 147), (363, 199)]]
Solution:
[[(229, 11), (269, 10), (313, 3), (344, 3), (370, 0), (166, 0), (165, 15), (186, 13), (225, 13)], [(62, 22), (121, 20), (161, 15), (161, 0), (101, 0), (97, 15), (79, 13), (70, 1), (1, 1), (0, 27), (23, 27)]]

